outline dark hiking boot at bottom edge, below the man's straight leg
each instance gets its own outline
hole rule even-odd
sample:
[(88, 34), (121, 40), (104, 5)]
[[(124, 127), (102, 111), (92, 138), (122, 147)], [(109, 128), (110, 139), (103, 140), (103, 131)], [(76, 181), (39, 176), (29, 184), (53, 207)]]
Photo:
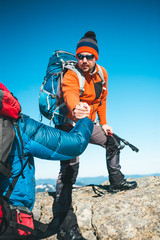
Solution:
[(57, 233), (57, 239), (58, 240), (87, 240), (86, 238), (82, 237), (77, 225), (68, 230), (60, 229), (59, 232)]

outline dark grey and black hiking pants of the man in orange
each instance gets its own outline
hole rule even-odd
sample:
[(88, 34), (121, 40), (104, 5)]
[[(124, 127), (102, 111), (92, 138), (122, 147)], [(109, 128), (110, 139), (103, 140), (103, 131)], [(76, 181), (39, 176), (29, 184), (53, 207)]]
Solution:
[[(71, 126), (58, 127), (69, 132)], [(106, 136), (101, 126), (94, 125), (90, 143), (100, 145), (106, 149), (106, 159), (108, 154), (112, 154), (116, 146), (111, 137)], [(119, 152), (107, 161), (107, 169), (109, 173), (109, 181), (111, 184), (117, 185), (123, 181), (124, 175), (121, 173), (119, 165)], [(77, 224), (76, 216), (72, 207), (72, 185), (76, 182), (79, 169), (79, 157), (68, 161), (61, 161), (60, 173), (56, 186), (56, 200), (54, 203), (54, 216), (59, 219), (59, 224), (65, 230)]]

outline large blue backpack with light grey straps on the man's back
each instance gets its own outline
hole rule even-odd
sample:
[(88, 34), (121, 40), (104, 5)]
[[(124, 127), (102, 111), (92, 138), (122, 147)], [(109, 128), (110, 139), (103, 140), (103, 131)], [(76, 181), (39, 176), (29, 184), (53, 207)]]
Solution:
[[(74, 71), (79, 79), (80, 95), (84, 92), (85, 77), (83, 72), (76, 67), (77, 59), (74, 54), (62, 50), (53, 52), (49, 59), (46, 76), (41, 85), (39, 93), (39, 110), (40, 113), (50, 119), (55, 125), (71, 123), (73, 120), (67, 117), (68, 109), (61, 98), (61, 83), (64, 74), (68, 69)], [(102, 79), (102, 84), (105, 84), (103, 72), (99, 67), (99, 75)]]

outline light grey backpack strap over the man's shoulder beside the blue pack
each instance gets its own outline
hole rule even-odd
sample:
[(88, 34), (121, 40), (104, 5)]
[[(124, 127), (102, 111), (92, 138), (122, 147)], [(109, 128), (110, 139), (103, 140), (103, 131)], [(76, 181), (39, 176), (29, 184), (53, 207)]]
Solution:
[(81, 96), (84, 92), (84, 84), (85, 84), (85, 77), (83, 72), (78, 67), (75, 67), (74, 65), (66, 65), (65, 68), (70, 69), (77, 74), (79, 79), (80, 96)]

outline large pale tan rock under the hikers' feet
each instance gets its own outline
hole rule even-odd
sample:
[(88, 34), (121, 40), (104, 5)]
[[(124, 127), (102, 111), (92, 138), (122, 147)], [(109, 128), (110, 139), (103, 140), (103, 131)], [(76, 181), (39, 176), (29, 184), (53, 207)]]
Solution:
[[(133, 180), (133, 179), (132, 179)], [(135, 179), (138, 188), (110, 194), (106, 182), (73, 189), (73, 206), (87, 240), (160, 240), (160, 177)], [(37, 193), (34, 216), (52, 220), (54, 193)], [(56, 240), (56, 235), (39, 239)]]

